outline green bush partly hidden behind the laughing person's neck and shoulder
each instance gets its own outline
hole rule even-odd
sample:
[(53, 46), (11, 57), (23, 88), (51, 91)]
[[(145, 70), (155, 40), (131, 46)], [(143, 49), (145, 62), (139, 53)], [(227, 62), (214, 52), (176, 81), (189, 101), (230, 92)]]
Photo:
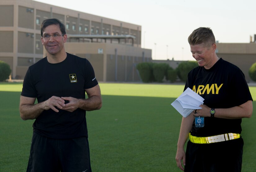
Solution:
[(181, 79), (181, 81), (186, 82), (188, 73), (197, 66), (197, 61), (182, 62), (176, 68), (177, 76)]

